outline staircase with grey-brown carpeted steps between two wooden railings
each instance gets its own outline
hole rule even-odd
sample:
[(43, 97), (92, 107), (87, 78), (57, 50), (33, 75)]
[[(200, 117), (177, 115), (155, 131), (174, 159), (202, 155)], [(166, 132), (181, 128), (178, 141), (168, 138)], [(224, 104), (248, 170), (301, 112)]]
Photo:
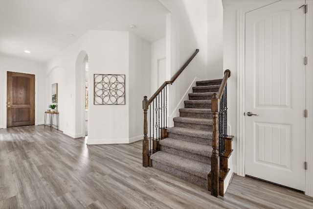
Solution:
[[(222, 79), (197, 81), (185, 108), (179, 109), (174, 127), (167, 128), (167, 138), (159, 140), (160, 151), (151, 154), (151, 165), (186, 181), (211, 190), (213, 113), (211, 99), (219, 91)], [(220, 155), (219, 195), (224, 196), (224, 179), (229, 171), (231, 140), (225, 139)]]

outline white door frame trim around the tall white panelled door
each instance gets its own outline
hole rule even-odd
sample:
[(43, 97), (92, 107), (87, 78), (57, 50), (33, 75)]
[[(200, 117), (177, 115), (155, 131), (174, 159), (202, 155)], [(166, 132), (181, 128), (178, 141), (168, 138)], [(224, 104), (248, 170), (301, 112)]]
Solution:
[[(237, 89), (239, 91), (237, 97), (237, 116), (238, 116), (238, 136), (237, 136), (237, 174), (240, 176), (245, 176), (245, 16), (246, 13), (260, 7), (266, 6), (271, 3), (275, 3), (280, 0), (264, 0), (257, 2), (248, 2), (244, 8), (237, 10)], [(313, 58), (313, 40), (309, 40), (309, 35), (313, 35), (313, 26), (309, 23), (313, 22), (313, 0), (306, 0), (308, 3), (308, 10), (306, 16), (306, 37), (307, 37), (307, 56)], [(299, 5), (301, 6), (301, 5)], [(311, 56), (310, 56), (311, 55)], [(313, 59), (312, 59), (313, 60)], [(308, 62), (306, 66), (306, 108), (307, 110), (313, 112), (313, 96), (310, 96), (310, 93), (313, 92), (313, 84), (310, 84), (309, 81), (313, 80), (312, 64)], [(310, 70), (309, 70), (310, 69)], [(311, 90), (311, 91), (310, 91)], [(310, 102), (311, 101), (311, 102)], [(308, 136), (313, 135), (313, 115), (306, 119), (306, 162), (308, 162), (308, 170), (306, 170), (306, 189), (305, 194), (313, 196), (313, 140), (309, 140)]]

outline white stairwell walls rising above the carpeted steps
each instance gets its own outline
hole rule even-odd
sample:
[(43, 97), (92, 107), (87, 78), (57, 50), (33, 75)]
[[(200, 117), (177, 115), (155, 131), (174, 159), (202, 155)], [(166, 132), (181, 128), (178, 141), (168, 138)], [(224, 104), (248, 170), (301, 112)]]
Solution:
[[(166, 61), (172, 77), (197, 48), (198, 55), (170, 86), (169, 122), (188, 99), (198, 79), (223, 76), (223, 8), (221, 0), (159, 0), (169, 11), (166, 22)], [(208, 14), (210, 13), (210, 14)]]

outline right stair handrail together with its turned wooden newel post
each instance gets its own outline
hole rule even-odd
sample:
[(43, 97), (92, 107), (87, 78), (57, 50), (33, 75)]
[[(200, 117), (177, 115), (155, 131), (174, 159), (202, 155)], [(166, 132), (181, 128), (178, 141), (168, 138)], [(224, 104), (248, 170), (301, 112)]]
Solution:
[(220, 100), (226, 87), (227, 79), (230, 77), (230, 70), (224, 71), (224, 77), (218, 93), (214, 93), (211, 100), (211, 111), (213, 112), (213, 133), (212, 133), (212, 157), (211, 157), (211, 195), (218, 197), (220, 193), (220, 152), (219, 152), (219, 112)]

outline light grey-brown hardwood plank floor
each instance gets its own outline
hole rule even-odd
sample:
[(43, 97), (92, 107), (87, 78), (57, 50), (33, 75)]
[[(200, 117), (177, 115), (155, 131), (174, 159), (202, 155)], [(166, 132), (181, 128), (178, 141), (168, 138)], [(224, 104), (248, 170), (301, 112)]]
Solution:
[(142, 167), (141, 141), (86, 145), (44, 126), (0, 129), (0, 209), (312, 209), (313, 198), (234, 176), (224, 197)]

